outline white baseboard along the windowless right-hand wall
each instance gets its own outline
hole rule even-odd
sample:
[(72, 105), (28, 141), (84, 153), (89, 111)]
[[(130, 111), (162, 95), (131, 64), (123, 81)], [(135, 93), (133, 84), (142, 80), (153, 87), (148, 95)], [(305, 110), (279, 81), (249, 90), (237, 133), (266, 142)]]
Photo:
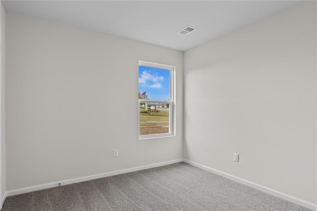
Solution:
[(254, 182), (251, 182), (251, 181), (242, 179), (242, 178), (240, 178), (240, 177), (233, 176), (233, 175), (231, 175), (231, 174), (225, 173), (225, 172), (223, 172), (223, 171), (216, 170), (216, 169), (214, 169), (214, 168), (211, 168), (211, 167), (208, 167), (208, 166), (199, 164), (199, 163), (197, 163), (197, 162), (193, 162), (193, 161), (191, 161), (191, 160), (183, 159), (183, 161), (186, 162), (186, 163), (188, 163), (188, 164), (194, 165), (194, 166), (196, 166), (196, 167), (202, 168), (202, 169), (204, 169), (204, 170), (210, 171), (210, 172), (212, 172), (212, 173), (218, 174), (218, 175), (220, 175), (220, 176), (223, 176), (223, 177), (225, 177), (225, 178), (228, 178), (228, 179), (234, 180), (234, 181), (236, 181), (236, 182), (245, 184), (245, 185), (250, 186), (250, 187), (252, 187), (252, 188), (256, 188), (256, 189), (258, 189), (258, 190), (261, 190), (261, 191), (263, 191), (263, 192), (265, 192), (265, 193), (268, 193), (268, 194), (271, 194), (271, 195), (273, 195), (273, 196), (276, 196), (276, 197), (285, 199), (285, 200), (287, 200), (287, 201), (293, 202), (293, 203), (295, 203), (295, 204), (301, 205), (301, 206), (306, 207), (306, 208), (308, 208), (308, 209), (311, 209), (311, 210), (313, 210), (313, 211), (317, 211), (317, 205), (316, 205), (316, 204), (313, 204), (313, 203), (304, 201), (304, 200), (302, 200), (302, 199), (299, 199), (299, 198), (296, 198), (296, 197), (293, 197), (293, 196), (290, 196), (290, 195), (281, 193), (281, 192), (279, 192), (279, 191), (273, 190), (273, 189), (268, 188), (268, 187), (265, 187), (265, 186), (263, 186), (263, 185), (260, 185), (260, 184), (257, 184), (257, 183), (254, 183)]

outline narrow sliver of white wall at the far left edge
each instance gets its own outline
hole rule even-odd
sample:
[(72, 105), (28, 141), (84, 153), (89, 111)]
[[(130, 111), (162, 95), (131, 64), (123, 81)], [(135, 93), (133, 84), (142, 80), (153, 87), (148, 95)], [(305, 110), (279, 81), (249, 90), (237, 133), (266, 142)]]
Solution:
[[(5, 11), (0, 8), (1, 22), (1, 197), (4, 196), (5, 187)], [(2, 200), (2, 199), (0, 199)]]

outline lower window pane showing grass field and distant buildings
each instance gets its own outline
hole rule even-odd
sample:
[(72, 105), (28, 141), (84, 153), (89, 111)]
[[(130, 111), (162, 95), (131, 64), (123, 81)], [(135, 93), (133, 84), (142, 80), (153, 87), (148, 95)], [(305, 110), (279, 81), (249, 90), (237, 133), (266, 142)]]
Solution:
[(169, 104), (140, 103), (140, 135), (169, 133)]

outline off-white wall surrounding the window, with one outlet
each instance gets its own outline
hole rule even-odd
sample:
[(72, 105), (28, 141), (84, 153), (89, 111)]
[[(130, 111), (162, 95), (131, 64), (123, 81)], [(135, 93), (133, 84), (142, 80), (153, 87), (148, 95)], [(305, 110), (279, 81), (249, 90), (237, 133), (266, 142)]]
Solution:
[[(182, 52), (5, 19), (7, 191), (182, 158)], [(176, 66), (175, 137), (138, 139), (138, 60)]]

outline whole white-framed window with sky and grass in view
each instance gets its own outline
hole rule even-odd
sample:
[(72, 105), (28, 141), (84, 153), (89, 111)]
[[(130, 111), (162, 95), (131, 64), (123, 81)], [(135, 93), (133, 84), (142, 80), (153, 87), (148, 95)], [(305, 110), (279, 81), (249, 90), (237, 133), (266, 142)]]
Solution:
[(139, 138), (174, 135), (175, 67), (139, 61)]

